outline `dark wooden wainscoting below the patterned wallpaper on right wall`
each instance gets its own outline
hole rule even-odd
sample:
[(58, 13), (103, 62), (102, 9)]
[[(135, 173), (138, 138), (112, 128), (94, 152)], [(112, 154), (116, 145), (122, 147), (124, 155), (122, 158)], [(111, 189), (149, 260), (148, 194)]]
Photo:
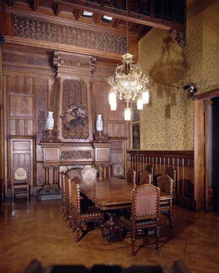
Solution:
[(129, 151), (127, 158), (127, 168), (136, 171), (136, 179), (147, 164), (154, 167), (154, 177), (164, 174), (166, 167), (175, 168), (176, 203), (189, 209), (196, 209), (193, 151)]

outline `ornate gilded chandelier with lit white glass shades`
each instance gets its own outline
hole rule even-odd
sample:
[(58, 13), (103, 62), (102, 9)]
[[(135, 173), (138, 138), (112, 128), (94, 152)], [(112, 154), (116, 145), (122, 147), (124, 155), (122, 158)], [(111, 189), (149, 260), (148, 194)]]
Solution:
[[(143, 75), (141, 67), (133, 64), (133, 55), (126, 53), (122, 55), (122, 65), (115, 69), (115, 75), (107, 79), (110, 85), (109, 104), (111, 110), (116, 110), (116, 97), (124, 99), (126, 108), (125, 120), (131, 119), (130, 101), (137, 99), (137, 109), (143, 109), (143, 104), (148, 103), (149, 90), (147, 84), (149, 77)], [(127, 73), (123, 69), (127, 65)]]

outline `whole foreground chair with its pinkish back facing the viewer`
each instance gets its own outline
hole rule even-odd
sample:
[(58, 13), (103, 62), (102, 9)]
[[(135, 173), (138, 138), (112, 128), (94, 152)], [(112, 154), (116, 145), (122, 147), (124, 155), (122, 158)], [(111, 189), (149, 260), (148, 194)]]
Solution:
[(131, 214), (119, 216), (119, 240), (122, 238), (122, 230), (127, 229), (131, 232), (132, 255), (136, 255), (134, 250), (136, 231), (145, 228), (154, 229), (156, 237), (156, 250), (160, 250), (159, 236), (159, 200), (160, 190), (151, 185), (143, 184), (131, 191), (132, 205)]

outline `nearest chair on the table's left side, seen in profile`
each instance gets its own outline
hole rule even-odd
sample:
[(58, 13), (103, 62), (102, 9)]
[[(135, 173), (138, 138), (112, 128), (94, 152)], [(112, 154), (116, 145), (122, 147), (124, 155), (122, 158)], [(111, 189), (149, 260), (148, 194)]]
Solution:
[(86, 210), (82, 211), (80, 205), (80, 186), (76, 184), (73, 180), (69, 179), (69, 184), (71, 184), (71, 197), (72, 202), (70, 205), (70, 216), (72, 224), (75, 225), (77, 230), (77, 238), (75, 242), (79, 242), (79, 235), (81, 227), (88, 222), (99, 223), (101, 226), (101, 234), (104, 237), (104, 212), (102, 212), (96, 206), (90, 206)]

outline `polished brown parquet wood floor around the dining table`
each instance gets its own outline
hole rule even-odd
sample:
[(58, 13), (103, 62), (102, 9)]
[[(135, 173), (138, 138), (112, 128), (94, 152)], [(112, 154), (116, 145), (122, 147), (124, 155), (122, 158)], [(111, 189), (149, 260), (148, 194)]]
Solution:
[[(184, 261), (191, 273), (219, 273), (219, 213), (193, 212), (173, 205), (173, 229), (161, 216), (160, 248), (154, 238), (145, 239), (137, 256), (131, 255), (130, 238), (108, 243), (101, 230), (91, 230), (75, 243), (61, 217), (61, 201), (37, 201), (31, 197), (7, 199), (0, 208), (0, 273), (22, 273), (29, 262), (40, 259), (56, 265), (166, 265)], [(82, 235), (82, 232), (80, 233)], [(142, 240), (136, 240), (136, 246)]]

